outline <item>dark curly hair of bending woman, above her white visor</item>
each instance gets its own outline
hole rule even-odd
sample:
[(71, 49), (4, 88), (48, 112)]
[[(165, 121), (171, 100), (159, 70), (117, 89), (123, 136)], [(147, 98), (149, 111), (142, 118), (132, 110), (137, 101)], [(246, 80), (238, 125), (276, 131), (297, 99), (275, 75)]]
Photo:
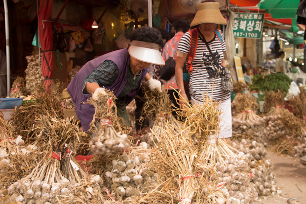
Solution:
[(159, 44), (162, 48), (164, 43), (160, 32), (156, 28), (141, 27), (135, 29), (130, 35), (130, 41), (145, 41)]

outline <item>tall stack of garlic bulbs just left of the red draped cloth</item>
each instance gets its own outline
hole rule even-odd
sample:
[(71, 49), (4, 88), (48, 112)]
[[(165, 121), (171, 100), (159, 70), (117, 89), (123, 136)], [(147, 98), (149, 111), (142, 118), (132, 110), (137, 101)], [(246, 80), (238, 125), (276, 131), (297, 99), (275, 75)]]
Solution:
[(38, 84), (43, 82), (43, 77), (39, 73), (38, 54), (26, 56), (28, 67), (26, 73), (26, 88), (29, 92), (33, 92)]

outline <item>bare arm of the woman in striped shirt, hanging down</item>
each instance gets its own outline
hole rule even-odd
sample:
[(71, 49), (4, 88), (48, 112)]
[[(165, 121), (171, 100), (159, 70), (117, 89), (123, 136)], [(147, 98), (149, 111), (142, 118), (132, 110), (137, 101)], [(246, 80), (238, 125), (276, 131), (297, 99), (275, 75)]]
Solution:
[[(182, 55), (182, 54), (183, 54), (183, 56), (179, 56), (179, 55)], [(176, 79), (176, 83), (178, 85), (180, 94), (183, 96), (183, 98), (186, 101), (188, 101), (188, 97), (186, 95), (185, 88), (184, 88), (183, 68), (184, 68), (187, 56), (188, 56), (188, 53), (181, 52), (180, 54), (178, 53), (178, 55), (176, 57), (176, 60), (175, 60), (175, 63), (176, 63), (175, 64), (175, 79)], [(185, 100), (180, 99), (180, 104), (187, 105)]]

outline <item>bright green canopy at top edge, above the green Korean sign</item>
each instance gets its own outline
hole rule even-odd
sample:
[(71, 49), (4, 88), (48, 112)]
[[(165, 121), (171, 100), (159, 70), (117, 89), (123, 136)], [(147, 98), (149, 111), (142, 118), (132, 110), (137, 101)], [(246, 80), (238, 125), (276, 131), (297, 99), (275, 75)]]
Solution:
[(272, 18), (295, 18), (300, 0), (261, 0), (257, 6)]

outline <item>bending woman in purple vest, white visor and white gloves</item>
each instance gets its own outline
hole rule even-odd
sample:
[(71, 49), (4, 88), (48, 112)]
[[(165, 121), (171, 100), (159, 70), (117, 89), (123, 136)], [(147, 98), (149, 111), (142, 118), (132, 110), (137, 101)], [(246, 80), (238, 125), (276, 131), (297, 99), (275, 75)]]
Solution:
[(85, 131), (93, 119), (95, 108), (87, 104), (92, 96), (98, 99), (105, 89), (114, 91), (117, 97), (117, 115), (130, 126), (126, 105), (133, 99), (145, 79), (149, 88), (161, 92), (161, 84), (149, 75), (151, 64), (164, 65), (160, 47), (163, 46), (160, 32), (155, 28), (142, 27), (130, 35), (130, 46), (102, 55), (87, 62), (67, 87), (76, 104), (76, 115)]

